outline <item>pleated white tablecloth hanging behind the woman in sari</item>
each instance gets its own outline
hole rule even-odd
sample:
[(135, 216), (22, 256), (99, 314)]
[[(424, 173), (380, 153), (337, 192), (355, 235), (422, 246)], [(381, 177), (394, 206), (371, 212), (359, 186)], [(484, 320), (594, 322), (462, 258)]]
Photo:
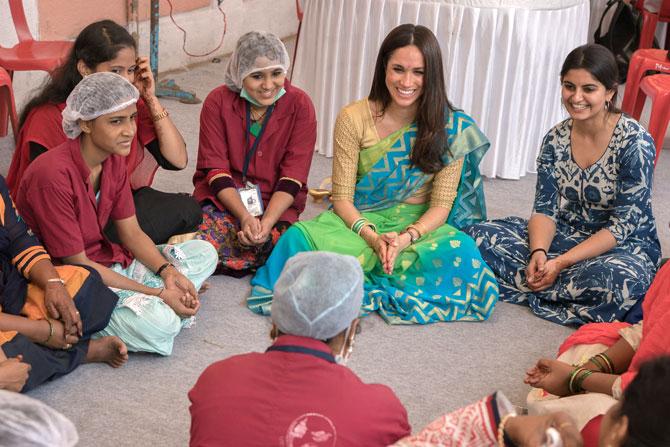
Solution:
[(558, 76), (565, 56), (586, 43), (589, 0), (303, 2), (293, 82), (314, 101), (319, 153), (332, 156), (339, 110), (369, 93), (386, 34), (417, 23), (440, 41), (450, 101), (491, 140), (482, 173), (535, 172), (542, 136), (565, 116)]

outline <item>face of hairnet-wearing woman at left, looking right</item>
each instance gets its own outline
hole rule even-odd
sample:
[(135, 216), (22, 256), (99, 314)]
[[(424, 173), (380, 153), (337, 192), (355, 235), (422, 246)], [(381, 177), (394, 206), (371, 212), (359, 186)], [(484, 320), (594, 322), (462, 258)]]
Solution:
[(133, 137), (137, 131), (136, 115), (137, 106), (132, 104), (118, 112), (84, 121), (80, 126), (98, 150), (109, 155), (125, 157), (130, 154)]

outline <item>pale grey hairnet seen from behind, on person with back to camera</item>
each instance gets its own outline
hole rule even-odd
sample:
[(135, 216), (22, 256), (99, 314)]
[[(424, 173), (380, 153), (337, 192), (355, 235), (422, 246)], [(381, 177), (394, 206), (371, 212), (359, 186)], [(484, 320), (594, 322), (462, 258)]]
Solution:
[(356, 258), (298, 253), (275, 284), (272, 321), (285, 334), (328, 340), (351, 325), (362, 301), (363, 270)]

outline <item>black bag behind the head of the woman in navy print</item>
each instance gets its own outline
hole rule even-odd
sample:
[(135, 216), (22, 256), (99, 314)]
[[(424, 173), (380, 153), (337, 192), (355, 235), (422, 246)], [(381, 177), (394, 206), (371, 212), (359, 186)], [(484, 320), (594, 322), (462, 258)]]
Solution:
[[(603, 20), (612, 8), (616, 8), (612, 13), (612, 21), (605, 34), (603, 34)], [(635, 9), (635, 6), (623, 0), (609, 0), (607, 2), (607, 7), (600, 18), (600, 23), (593, 35), (593, 39), (595, 43), (608, 48), (614, 54), (617, 66), (619, 67), (620, 84), (626, 82), (628, 64), (633, 52), (640, 45), (641, 32), (642, 14)]]

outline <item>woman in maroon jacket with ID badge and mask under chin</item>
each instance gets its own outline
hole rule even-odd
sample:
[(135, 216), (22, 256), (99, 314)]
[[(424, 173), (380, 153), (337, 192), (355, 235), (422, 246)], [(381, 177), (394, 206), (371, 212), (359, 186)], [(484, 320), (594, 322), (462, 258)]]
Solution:
[(216, 247), (219, 271), (232, 276), (262, 265), (305, 209), (316, 116), (307, 94), (286, 80), (288, 66), (277, 37), (243, 35), (225, 85), (200, 114), (193, 184), (204, 220), (196, 237)]

